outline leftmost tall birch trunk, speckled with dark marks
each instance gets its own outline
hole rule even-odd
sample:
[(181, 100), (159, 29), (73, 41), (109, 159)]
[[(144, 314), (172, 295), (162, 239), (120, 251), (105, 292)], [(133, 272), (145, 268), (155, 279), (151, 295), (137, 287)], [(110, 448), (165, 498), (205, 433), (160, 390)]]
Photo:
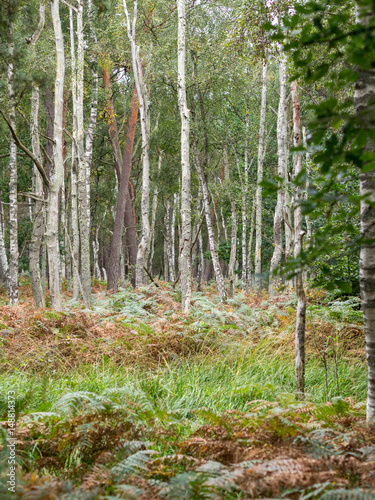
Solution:
[[(9, 92), (9, 122), (16, 130), (16, 96), (14, 92), (14, 26), (10, 27), (9, 61), (8, 61), (8, 92)], [(18, 202), (17, 202), (17, 146), (13, 136), (10, 136), (9, 155), (9, 272), (8, 292), (9, 303), (18, 303)]]

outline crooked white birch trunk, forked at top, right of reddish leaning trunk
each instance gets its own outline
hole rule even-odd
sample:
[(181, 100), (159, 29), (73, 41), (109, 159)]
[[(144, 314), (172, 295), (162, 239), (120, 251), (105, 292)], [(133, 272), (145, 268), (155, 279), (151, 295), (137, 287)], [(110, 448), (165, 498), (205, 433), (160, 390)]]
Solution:
[(150, 221), (149, 221), (149, 190), (150, 190), (150, 160), (149, 160), (149, 133), (147, 127), (147, 92), (143, 83), (142, 63), (139, 56), (139, 46), (135, 42), (135, 28), (137, 23), (137, 1), (134, 2), (133, 21), (130, 23), (130, 16), (124, 0), (124, 10), (127, 22), (128, 38), (131, 44), (133, 74), (137, 94), (139, 99), (139, 115), (141, 119), (142, 133), (142, 235), (138, 245), (137, 252), (137, 267), (135, 270), (136, 286), (144, 284), (144, 265), (145, 254), (147, 252), (148, 241), (150, 238)]

